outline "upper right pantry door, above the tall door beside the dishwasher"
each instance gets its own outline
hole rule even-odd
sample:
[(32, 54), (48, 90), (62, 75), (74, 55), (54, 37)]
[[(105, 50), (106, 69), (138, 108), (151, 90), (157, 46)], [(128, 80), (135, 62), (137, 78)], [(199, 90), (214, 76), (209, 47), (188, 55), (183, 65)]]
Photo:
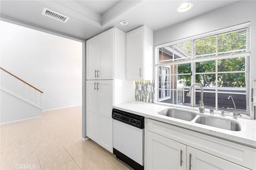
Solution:
[(100, 62), (99, 80), (114, 79), (114, 28), (99, 35)]

